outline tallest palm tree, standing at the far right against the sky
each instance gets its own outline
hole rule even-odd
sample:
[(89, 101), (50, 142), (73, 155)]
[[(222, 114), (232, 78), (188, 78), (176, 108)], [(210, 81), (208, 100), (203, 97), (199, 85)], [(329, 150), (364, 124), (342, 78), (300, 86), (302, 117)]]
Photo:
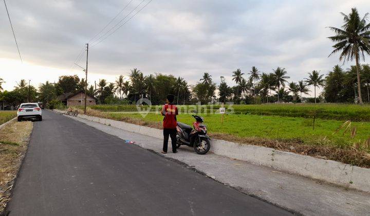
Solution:
[(332, 42), (336, 43), (332, 46), (334, 50), (330, 53), (329, 56), (340, 51), (340, 61), (353, 61), (353, 59), (356, 60), (356, 73), (358, 83), (357, 89), (360, 104), (363, 104), (360, 84), (361, 66), (359, 64), (359, 59), (360, 57), (362, 57), (365, 60), (364, 53), (370, 55), (370, 23), (366, 24), (368, 13), (366, 13), (362, 19), (360, 18), (360, 15), (356, 8), (352, 8), (352, 11), (348, 15), (344, 13), (341, 14), (343, 15), (344, 21), (344, 24), (342, 26), (343, 29), (329, 27), (332, 31), (336, 33), (335, 36), (329, 37)]

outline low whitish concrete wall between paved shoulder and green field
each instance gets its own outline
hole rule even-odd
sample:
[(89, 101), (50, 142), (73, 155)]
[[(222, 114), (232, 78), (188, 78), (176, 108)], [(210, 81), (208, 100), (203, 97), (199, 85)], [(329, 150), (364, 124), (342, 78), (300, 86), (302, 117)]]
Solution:
[[(63, 113), (62, 111), (57, 111)], [(162, 130), (79, 114), (78, 117), (161, 139)], [(271, 148), (212, 139), (211, 152), (346, 188), (370, 192), (370, 169)]]

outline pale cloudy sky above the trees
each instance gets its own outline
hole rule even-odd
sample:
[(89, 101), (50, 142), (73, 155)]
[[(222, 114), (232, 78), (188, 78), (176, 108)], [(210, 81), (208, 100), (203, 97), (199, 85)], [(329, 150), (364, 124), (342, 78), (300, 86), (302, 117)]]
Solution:
[[(328, 58), (333, 43), (327, 37), (334, 33), (326, 28), (342, 25), (340, 12), (348, 14), (352, 7), (357, 7), (361, 16), (370, 12), (368, 0), (149, 1), (8, 0), (23, 63), (5, 6), (0, 4), (3, 88), (10, 91), (21, 79), (39, 86), (47, 80), (57, 82), (62, 75), (83, 78), (84, 72), (73, 63), (87, 42), (89, 84), (103, 78), (114, 82), (119, 75), (127, 77), (130, 69), (138, 68), (144, 75), (181, 76), (190, 84), (207, 71), (216, 83), (224, 76), (228, 84), (235, 85), (232, 71), (241, 68), (248, 78), (252, 66), (265, 73), (284, 67), (290, 82), (299, 81), (312, 70), (327, 74), (334, 65), (343, 64), (338, 55)], [(86, 52), (82, 54), (78, 64), (85, 67)], [(362, 63), (369, 63), (369, 58)]]

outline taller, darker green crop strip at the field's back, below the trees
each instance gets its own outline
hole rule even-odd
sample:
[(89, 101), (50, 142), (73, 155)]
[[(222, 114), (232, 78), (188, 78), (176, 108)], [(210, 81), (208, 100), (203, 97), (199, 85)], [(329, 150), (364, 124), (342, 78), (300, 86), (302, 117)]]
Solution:
[[(179, 105), (180, 113), (196, 110), (198, 113), (218, 112), (220, 105)], [(243, 115), (266, 115), (310, 118), (310, 112), (322, 109), (321, 119), (369, 121), (370, 105), (355, 104), (312, 104), (312, 103), (284, 103), (284, 104), (256, 104), (256, 105), (225, 105), (228, 112)], [(142, 109), (158, 111), (161, 106), (142, 106)], [(95, 105), (91, 109), (100, 111), (137, 111), (135, 105)]]

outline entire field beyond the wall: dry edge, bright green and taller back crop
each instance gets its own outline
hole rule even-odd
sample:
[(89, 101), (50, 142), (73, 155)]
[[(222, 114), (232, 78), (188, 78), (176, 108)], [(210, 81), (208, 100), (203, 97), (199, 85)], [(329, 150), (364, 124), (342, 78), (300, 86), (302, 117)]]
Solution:
[[(183, 108), (183, 106), (180, 107)], [(106, 108), (107, 106), (103, 105), (99, 110), (107, 110)], [(110, 108), (113, 108), (114, 112), (88, 109), (87, 114), (162, 128), (163, 117), (159, 112), (154, 112), (158, 107), (152, 107), (152, 111), (147, 115), (135, 112), (135, 106), (125, 107), (125, 112), (119, 111), (123, 107)], [(201, 106), (201, 109), (202, 113), (199, 115), (205, 118), (205, 124), (212, 138), (265, 146), (370, 168), (370, 122), (367, 120), (370, 114), (369, 106), (234, 105), (234, 114), (224, 115), (223, 122), (219, 114), (214, 112), (204, 114), (204, 110), (211, 109), (210, 106)], [(323, 113), (321, 118), (316, 119), (314, 130), (313, 118), (309, 112), (317, 109), (323, 109)], [(217, 106), (214, 110), (218, 110)], [(189, 125), (194, 121), (189, 113), (180, 113), (177, 120)], [(337, 131), (347, 120), (352, 120), (348, 130), (346, 130), (348, 126), (346, 124)]]

